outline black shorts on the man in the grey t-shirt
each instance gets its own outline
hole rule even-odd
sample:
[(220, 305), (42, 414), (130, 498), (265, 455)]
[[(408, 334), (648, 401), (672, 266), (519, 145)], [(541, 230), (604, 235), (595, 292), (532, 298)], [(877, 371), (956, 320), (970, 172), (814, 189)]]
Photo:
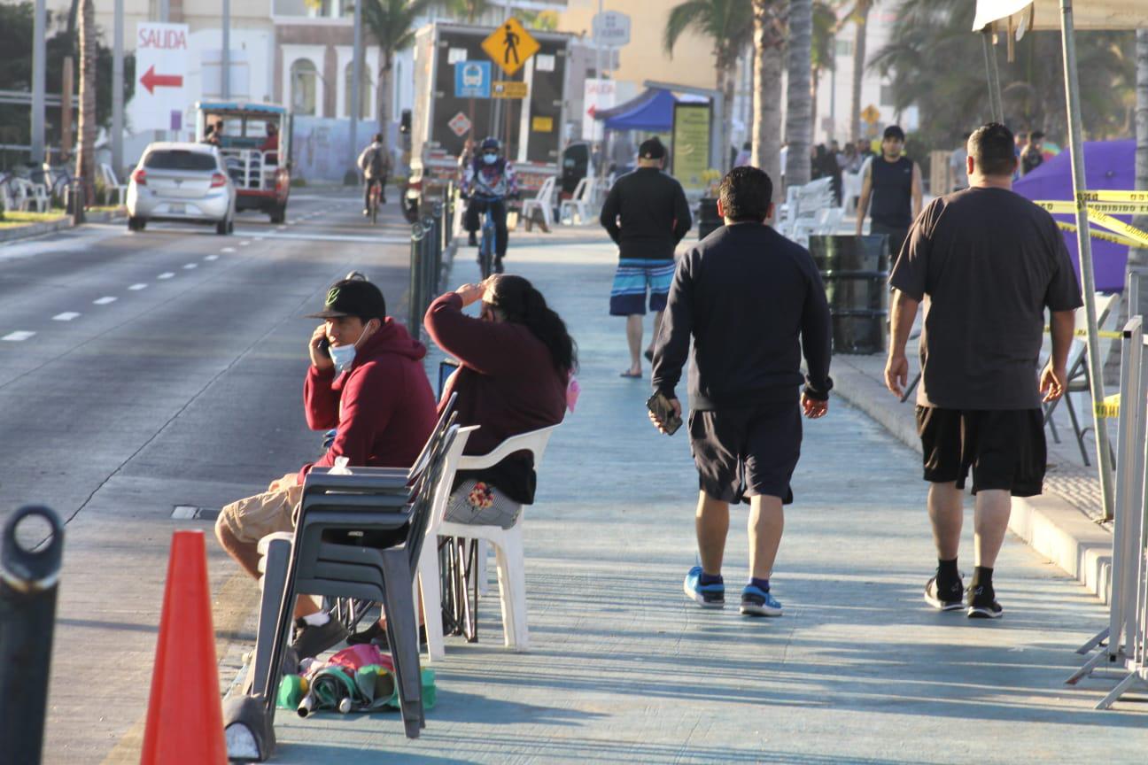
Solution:
[(1014, 497), (1041, 492), (1048, 451), (1045, 416), (1037, 409), (941, 409), (917, 407), (917, 435), (925, 481), (964, 489), (972, 468), (972, 493), (998, 489)]

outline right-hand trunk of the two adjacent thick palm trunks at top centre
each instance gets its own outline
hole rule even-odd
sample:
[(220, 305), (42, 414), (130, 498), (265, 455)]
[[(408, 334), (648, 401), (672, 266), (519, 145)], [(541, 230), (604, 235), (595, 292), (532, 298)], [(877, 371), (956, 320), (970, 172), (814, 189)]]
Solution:
[(789, 73), (785, 94), (785, 185), (805, 186), (809, 182), (809, 141), (813, 138), (813, 0), (790, 0), (789, 42), (786, 45)]

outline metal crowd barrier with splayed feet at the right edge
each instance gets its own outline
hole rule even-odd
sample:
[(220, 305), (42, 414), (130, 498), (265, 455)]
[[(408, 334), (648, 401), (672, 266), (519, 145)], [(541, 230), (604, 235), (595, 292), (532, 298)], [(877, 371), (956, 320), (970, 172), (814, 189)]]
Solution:
[(1143, 317), (1133, 315), (1120, 337), (1120, 399), (1116, 454), (1116, 501), (1108, 626), (1078, 649), (1100, 651), (1066, 680), (1118, 678), (1096, 709), (1108, 709), (1130, 690), (1148, 688), (1148, 545), (1145, 493), (1148, 435), (1148, 353)]

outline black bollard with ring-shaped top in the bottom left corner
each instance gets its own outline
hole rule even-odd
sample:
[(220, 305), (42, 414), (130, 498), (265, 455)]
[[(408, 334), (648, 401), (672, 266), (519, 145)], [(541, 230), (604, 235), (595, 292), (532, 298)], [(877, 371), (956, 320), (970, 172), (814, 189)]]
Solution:
[[(38, 551), (16, 540), (16, 526), (42, 518), (51, 536)], [(0, 541), (0, 741), (9, 763), (40, 762), (48, 668), (56, 617), (56, 586), (64, 529), (47, 507), (22, 507), (3, 526)]]

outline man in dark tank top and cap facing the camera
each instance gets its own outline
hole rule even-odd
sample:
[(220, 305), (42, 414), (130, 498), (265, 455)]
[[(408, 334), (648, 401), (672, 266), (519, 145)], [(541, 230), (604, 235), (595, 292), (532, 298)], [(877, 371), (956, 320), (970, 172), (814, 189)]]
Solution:
[[(864, 167), (861, 198), (858, 201), (858, 236), (867, 212), (871, 213), (870, 234), (889, 236), (889, 253), (895, 258), (909, 233), (909, 226), (921, 213), (921, 169), (903, 156), (905, 131), (897, 125), (885, 128), (881, 156)], [(872, 209), (869, 209), (869, 201)]]

